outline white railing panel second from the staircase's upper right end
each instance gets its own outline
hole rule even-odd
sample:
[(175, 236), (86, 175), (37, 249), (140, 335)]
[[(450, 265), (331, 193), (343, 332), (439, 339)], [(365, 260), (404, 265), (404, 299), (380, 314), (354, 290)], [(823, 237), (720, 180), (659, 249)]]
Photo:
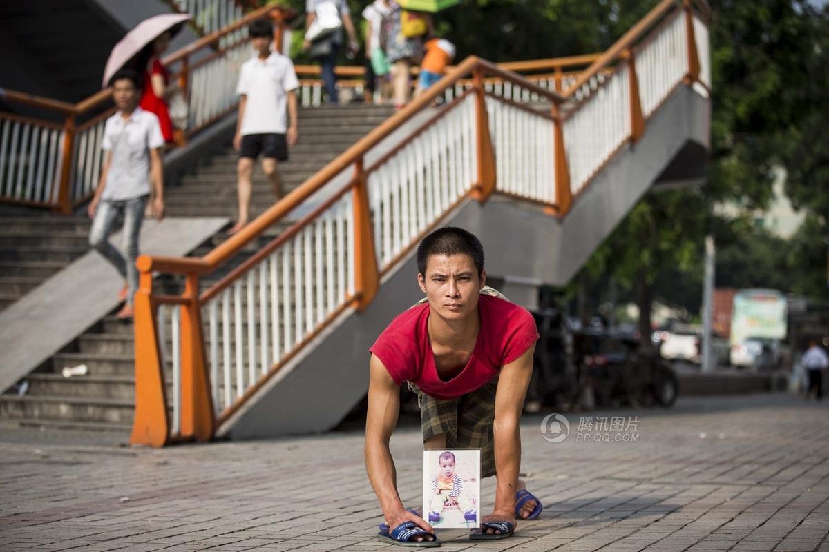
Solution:
[[(601, 81), (601, 82), (599, 82)], [(604, 79), (591, 79), (577, 96), (584, 98), (567, 116), (564, 136), (570, 190), (576, 194), (630, 136), (630, 79), (620, 64)]]

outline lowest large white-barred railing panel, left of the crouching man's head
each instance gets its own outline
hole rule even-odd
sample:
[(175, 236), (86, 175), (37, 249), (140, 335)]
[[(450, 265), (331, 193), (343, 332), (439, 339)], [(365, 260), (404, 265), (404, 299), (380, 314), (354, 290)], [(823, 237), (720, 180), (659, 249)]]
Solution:
[(238, 401), (351, 300), (353, 214), (348, 190), (202, 303), (216, 413)]

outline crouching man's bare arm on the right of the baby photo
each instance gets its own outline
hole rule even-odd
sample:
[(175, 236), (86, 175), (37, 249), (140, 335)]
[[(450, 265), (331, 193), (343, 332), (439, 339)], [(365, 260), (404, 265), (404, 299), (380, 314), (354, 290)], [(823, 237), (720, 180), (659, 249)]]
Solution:
[(493, 514), (508, 516), (514, 513), (518, 490), (518, 471), (521, 468), (521, 410), (532, 376), (531, 348), (501, 369), (495, 393), (495, 470), (497, 487)]

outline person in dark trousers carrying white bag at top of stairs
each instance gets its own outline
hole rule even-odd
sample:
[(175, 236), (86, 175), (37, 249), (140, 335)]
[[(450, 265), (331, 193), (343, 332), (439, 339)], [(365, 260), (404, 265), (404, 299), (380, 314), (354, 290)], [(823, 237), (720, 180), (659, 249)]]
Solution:
[(346, 0), (306, 0), (303, 50), (322, 67), (322, 84), (328, 101), (337, 103), (337, 54), (342, 45), (342, 27), (348, 33), (348, 52), (356, 54), (357, 37)]

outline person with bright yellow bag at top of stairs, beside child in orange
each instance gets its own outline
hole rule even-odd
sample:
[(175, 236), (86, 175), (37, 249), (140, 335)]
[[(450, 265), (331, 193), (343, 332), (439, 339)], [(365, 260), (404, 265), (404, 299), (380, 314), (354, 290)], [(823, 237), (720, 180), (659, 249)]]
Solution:
[(434, 34), (432, 17), (426, 12), (405, 10), (395, 3), (384, 19), (383, 38), (385, 55), (391, 64), (395, 109), (409, 102), (411, 93), (410, 68), (423, 59), (424, 37)]

